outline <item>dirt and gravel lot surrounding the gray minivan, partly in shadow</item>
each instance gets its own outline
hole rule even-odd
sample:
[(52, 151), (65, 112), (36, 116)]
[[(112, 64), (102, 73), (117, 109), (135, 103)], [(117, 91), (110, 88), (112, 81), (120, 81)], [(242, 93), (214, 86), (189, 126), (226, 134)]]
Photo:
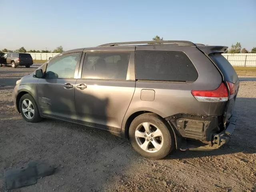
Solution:
[(30, 124), (13, 108), (16, 80), (35, 68), (0, 68), (0, 191), (5, 169), (29, 161), (54, 164), (55, 174), (14, 192), (220, 191), (256, 192), (256, 78), (240, 78), (237, 128), (211, 152), (174, 151), (164, 160), (143, 158), (109, 132), (68, 122)]

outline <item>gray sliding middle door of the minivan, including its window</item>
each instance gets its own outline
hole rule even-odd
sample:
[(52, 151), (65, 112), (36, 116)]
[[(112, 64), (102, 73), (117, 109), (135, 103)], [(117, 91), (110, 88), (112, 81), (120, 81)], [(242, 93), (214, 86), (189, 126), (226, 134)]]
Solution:
[(121, 131), (135, 90), (135, 79), (130, 78), (128, 70), (132, 58), (134, 66), (134, 51), (86, 53), (75, 88), (79, 123)]

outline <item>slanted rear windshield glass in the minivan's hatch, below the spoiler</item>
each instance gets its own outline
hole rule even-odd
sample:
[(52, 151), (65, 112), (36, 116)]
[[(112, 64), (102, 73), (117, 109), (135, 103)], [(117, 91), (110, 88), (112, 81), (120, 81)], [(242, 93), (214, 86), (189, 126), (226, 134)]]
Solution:
[(224, 80), (236, 83), (236, 81), (238, 80), (238, 76), (230, 62), (228, 62), (228, 60), (226, 60), (226, 58), (224, 58), (224, 56), (222, 56), (222, 54), (220, 53), (212, 53), (209, 56), (217, 65), (219, 70), (222, 72)]

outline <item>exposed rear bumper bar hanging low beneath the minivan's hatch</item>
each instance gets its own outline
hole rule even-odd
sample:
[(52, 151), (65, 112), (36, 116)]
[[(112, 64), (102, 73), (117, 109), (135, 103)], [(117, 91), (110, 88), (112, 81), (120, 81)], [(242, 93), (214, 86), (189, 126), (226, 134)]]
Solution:
[(214, 150), (220, 148), (222, 145), (228, 143), (230, 136), (232, 136), (236, 128), (237, 117), (232, 115), (228, 120), (228, 125), (226, 129), (218, 134), (214, 134), (210, 144), (196, 144), (194, 142), (185, 142), (180, 147), (180, 150)]

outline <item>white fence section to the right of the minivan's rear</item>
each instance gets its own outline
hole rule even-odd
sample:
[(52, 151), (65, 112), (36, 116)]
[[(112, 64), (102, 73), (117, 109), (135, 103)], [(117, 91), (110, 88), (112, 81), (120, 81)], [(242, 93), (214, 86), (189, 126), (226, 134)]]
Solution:
[(256, 53), (224, 53), (222, 55), (232, 66), (256, 67)]

